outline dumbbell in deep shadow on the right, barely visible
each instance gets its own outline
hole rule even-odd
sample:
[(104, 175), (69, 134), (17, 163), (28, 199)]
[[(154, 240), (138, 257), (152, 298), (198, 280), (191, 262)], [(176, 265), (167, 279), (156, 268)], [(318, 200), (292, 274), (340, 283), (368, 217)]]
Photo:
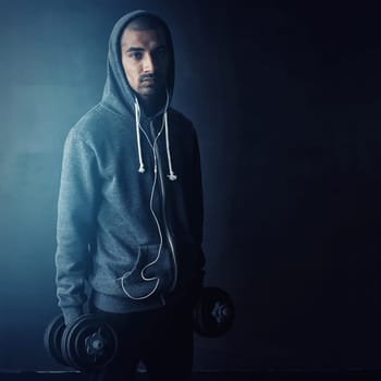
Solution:
[(219, 337), (232, 327), (234, 305), (226, 292), (219, 287), (204, 287), (193, 309), (193, 327), (205, 337)]

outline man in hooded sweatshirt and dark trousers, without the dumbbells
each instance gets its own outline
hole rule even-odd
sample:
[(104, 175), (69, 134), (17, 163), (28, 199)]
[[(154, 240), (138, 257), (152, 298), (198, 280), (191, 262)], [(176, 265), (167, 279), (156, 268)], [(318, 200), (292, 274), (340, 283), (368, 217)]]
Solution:
[(205, 257), (198, 143), (170, 107), (172, 38), (145, 11), (114, 25), (101, 101), (64, 146), (57, 228), (57, 295), (65, 323), (89, 308), (116, 331), (98, 380), (189, 380), (192, 308)]

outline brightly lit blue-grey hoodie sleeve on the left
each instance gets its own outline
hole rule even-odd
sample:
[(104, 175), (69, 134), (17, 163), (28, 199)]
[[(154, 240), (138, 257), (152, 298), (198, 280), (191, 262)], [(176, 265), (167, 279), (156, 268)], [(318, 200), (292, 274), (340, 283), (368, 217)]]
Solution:
[(97, 165), (94, 150), (72, 130), (63, 150), (58, 201), (56, 284), (65, 323), (83, 314), (95, 233)]

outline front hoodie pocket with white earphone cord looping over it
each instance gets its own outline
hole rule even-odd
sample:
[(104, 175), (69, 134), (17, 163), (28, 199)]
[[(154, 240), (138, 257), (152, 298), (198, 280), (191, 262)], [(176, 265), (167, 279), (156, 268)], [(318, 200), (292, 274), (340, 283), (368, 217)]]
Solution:
[(132, 299), (146, 299), (168, 292), (173, 282), (170, 250), (159, 245), (139, 246), (136, 263), (123, 276), (123, 291)]

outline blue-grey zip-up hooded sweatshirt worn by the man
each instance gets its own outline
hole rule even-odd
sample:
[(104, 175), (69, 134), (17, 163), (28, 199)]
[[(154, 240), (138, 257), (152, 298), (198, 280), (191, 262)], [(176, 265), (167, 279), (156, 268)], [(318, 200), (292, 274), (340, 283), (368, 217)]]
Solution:
[(135, 11), (114, 25), (101, 101), (69, 132), (58, 201), (56, 283), (69, 323), (93, 304), (133, 312), (186, 300), (205, 266), (202, 189), (197, 136), (192, 122), (167, 102), (153, 116), (140, 109), (120, 54), (125, 26), (149, 14)]

